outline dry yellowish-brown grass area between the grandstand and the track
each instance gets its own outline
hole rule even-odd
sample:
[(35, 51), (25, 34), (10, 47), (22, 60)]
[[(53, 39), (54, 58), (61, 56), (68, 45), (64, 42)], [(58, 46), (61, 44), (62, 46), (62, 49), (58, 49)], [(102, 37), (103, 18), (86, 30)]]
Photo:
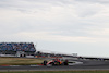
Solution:
[(0, 57), (0, 65), (29, 65), (43, 63), (41, 59)]

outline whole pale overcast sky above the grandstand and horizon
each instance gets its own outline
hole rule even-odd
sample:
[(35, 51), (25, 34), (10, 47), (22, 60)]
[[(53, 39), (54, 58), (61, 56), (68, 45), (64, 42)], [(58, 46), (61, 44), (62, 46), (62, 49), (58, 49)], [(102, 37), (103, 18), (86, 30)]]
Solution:
[(0, 0), (0, 42), (109, 57), (109, 0)]

